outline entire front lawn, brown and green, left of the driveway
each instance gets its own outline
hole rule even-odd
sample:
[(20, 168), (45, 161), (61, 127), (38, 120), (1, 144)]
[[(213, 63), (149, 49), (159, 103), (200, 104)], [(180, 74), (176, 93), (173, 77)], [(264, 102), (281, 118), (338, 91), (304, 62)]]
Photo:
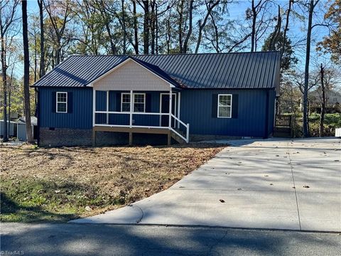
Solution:
[(67, 221), (119, 208), (169, 188), (222, 149), (0, 145), (0, 220)]

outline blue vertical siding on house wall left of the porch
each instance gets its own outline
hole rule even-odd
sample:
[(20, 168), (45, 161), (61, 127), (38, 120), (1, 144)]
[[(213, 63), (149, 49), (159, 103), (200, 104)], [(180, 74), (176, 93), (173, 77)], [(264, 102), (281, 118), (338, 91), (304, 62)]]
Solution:
[[(92, 129), (92, 88), (40, 87), (40, 127)], [(52, 92), (72, 92), (72, 113), (52, 111)]]

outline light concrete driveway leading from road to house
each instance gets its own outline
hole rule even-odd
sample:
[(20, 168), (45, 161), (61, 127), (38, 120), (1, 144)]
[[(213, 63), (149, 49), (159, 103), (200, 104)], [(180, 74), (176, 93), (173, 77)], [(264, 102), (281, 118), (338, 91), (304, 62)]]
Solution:
[(341, 231), (340, 139), (229, 144), (168, 190), (72, 223)]

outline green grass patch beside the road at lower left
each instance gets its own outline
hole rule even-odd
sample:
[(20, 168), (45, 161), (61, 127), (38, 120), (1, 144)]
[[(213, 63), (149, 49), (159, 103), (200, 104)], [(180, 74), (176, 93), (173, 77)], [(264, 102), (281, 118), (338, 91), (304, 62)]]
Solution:
[(110, 198), (97, 188), (70, 181), (1, 179), (2, 222), (65, 222), (79, 218), (85, 207), (124, 203), (124, 198)]

